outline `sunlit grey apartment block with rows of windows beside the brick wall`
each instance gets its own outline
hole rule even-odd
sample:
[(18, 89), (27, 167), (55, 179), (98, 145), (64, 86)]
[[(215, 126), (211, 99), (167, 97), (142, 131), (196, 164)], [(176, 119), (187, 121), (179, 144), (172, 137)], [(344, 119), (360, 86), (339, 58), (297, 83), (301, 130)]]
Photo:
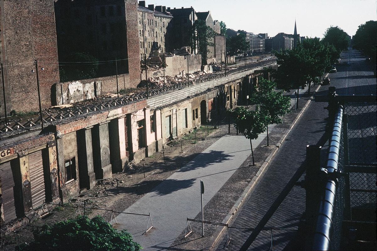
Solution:
[(140, 56), (149, 56), (153, 52), (166, 52), (166, 40), (169, 36), (170, 21), (173, 16), (166, 11), (166, 6), (148, 5), (139, 1), (138, 32)]

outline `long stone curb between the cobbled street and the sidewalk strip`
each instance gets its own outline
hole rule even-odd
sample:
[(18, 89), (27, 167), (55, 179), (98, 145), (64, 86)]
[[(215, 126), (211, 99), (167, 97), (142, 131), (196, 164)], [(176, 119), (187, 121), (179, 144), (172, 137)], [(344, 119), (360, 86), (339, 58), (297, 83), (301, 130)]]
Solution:
[[(305, 106), (300, 111), (299, 115), (294, 120), (293, 124), (290, 126), (290, 129), (288, 130), (288, 132), (286, 132), (283, 135), (282, 139), (280, 139), (279, 142), (277, 142), (276, 148), (265, 159), (265, 161), (263, 162), (263, 164), (261, 165), (261, 167), (259, 168), (259, 170), (255, 174), (255, 176), (253, 177), (253, 179), (251, 179), (250, 183), (247, 185), (247, 187), (245, 188), (244, 192), (241, 194), (241, 196), (239, 197), (239, 199), (234, 203), (234, 206), (230, 209), (230, 211), (228, 212), (227, 216), (225, 216), (224, 220), (222, 220), (221, 223), (228, 224), (230, 222), (230, 220), (233, 219), (233, 216), (237, 213), (238, 209), (241, 207), (241, 205), (244, 202), (244, 200), (250, 194), (251, 189), (254, 187), (254, 185), (256, 184), (256, 182), (259, 180), (259, 178), (261, 177), (261, 174), (263, 174), (263, 172), (266, 169), (266, 167), (268, 166), (269, 162), (273, 159), (273, 157), (275, 156), (277, 150), (279, 150), (280, 146), (283, 144), (285, 138), (287, 138), (288, 134), (291, 132), (291, 130), (294, 128), (294, 126), (296, 126), (297, 121), (299, 121), (299, 119), (301, 118), (303, 112), (309, 106), (310, 101), (312, 101), (312, 98), (313, 98), (313, 96), (315, 96), (315, 94), (318, 91), (319, 87), (321, 87), (321, 86), (319, 85), (317, 87), (317, 89), (313, 92), (313, 94), (311, 95), (310, 99), (308, 99), (308, 101), (306, 102)], [(207, 245), (205, 245), (207, 247), (206, 248), (207, 250), (214, 250), (214, 248), (216, 247), (216, 243), (222, 237), (222, 235), (224, 234), (225, 230), (226, 230), (225, 226), (219, 226), (219, 227), (217, 227), (215, 233), (212, 234), (212, 237), (210, 238), (210, 240), (208, 240)]]

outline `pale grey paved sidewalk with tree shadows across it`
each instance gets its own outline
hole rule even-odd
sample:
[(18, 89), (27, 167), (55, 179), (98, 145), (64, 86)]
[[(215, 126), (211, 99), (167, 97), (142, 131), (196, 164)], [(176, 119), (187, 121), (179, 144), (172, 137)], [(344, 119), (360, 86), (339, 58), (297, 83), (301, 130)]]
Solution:
[[(265, 138), (253, 141), (253, 147)], [(121, 214), (117, 229), (127, 229), (144, 249), (170, 246), (185, 228), (186, 217), (201, 211), (200, 180), (205, 185), (204, 205), (250, 155), (250, 141), (244, 136), (224, 136), (199, 154), (185, 167), (139, 199), (125, 212), (150, 213), (154, 228), (146, 235), (146, 216)]]

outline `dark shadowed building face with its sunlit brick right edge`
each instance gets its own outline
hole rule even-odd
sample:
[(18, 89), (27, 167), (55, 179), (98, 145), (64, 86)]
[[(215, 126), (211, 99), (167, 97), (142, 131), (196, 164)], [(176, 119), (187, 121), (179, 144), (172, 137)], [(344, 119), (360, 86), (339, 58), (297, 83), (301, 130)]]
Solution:
[(130, 86), (139, 83), (136, 0), (55, 0), (55, 15), (59, 61), (72, 61), (72, 52), (84, 52), (101, 61), (92, 77), (118, 70), (129, 74)]

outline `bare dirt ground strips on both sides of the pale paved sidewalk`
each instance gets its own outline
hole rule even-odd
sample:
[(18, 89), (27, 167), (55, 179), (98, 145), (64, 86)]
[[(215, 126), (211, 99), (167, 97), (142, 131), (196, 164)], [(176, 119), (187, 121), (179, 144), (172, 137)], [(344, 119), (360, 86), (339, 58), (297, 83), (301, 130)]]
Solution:
[[(231, 176), (218, 193), (208, 202), (204, 208), (206, 220), (213, 222), (222, 222), (228, 211), (233, 207), (236, 200), (249, 184), (258, 168), (264, 162), (274, 145), (284, 135), (285, 129), (288, 130), (297, 113), (290, 113), (284, 118), (283, 124), (277, 125), (282, 130), (276, 130), (269, 133), (270, 146), (267, 147), (266, 139), (261, 145), (254, 150), (255, 166), (252, 166), (251, 155), (241, 167), (235, 167), (238, 170)], [(108, 180), (98, 181), (91, 190), (82, 190), (80, 195), (69, 199), (64, 206), (55, 207), (48, 216), (31, 221), (29, 225), (12, 232), (7, 236), (2, 236), (0, 248), (2, 251), (14, 250), (15, 246), (21, 243), (31, 242), (33, 239), (32, 232), (46, 223), (54, 223), (61, 220), (71, 219), (78, 214), (84, 214), (83, 208), (77, 209), (76, 206), (89, 207), (85, 210), (85, 215), (93, 217), (101, 215), (106, 220), (111, 219), (111, 210), (124, 211), (138, 199), (143, 197), (154, 187), (167, 179), (176, 170), (183, 167), (199, 153), (203, 152), (219, 138), (228, 134), (228, 124), (226, 119), (220, 122), (218, 128), (214, 125), (200, 127), (196, 133), (183, 136), (181, 139), (170, 142), (164, 146), (164, 151), (157, 152), (155, 155), (145, 158), (138, 164), (131, 165), (124, 173), (115, 173)], [(230, 126), (230, 134), (236, 134), (233, 124)], [(117, 181), (118, 180), (118, 188)], [(65, 207), (70, 206), (70, 207)], [(101, 208), (106, 210), (90, 209)], [(110, 211), (107, 211), (110, 210)], [(117, 214), (115, 213), (115, 216)], [(201, 216), (200, 216), (201, 217)], [(199, 215), (196, 216), (199, 219)], [(215, 232), (216, 226), (209, 225), (206, 227), (205, 237), (201, 237), (199, 223), (193, 223), (193, 234), (183, 238), (184, 229), (181, 236), (172, 244), (179, 250), (205, 248), (210, 236)]]

